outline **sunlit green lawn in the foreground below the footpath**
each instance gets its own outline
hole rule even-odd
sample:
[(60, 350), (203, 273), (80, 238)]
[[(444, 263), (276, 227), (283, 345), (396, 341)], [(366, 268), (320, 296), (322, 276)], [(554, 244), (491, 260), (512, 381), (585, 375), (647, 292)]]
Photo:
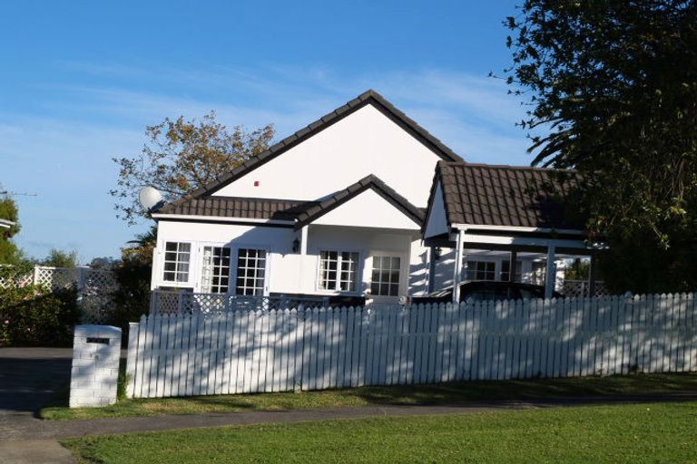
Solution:
[(697, 462), (697, 402), (331, 420), (64, 440), (82, 462)]

